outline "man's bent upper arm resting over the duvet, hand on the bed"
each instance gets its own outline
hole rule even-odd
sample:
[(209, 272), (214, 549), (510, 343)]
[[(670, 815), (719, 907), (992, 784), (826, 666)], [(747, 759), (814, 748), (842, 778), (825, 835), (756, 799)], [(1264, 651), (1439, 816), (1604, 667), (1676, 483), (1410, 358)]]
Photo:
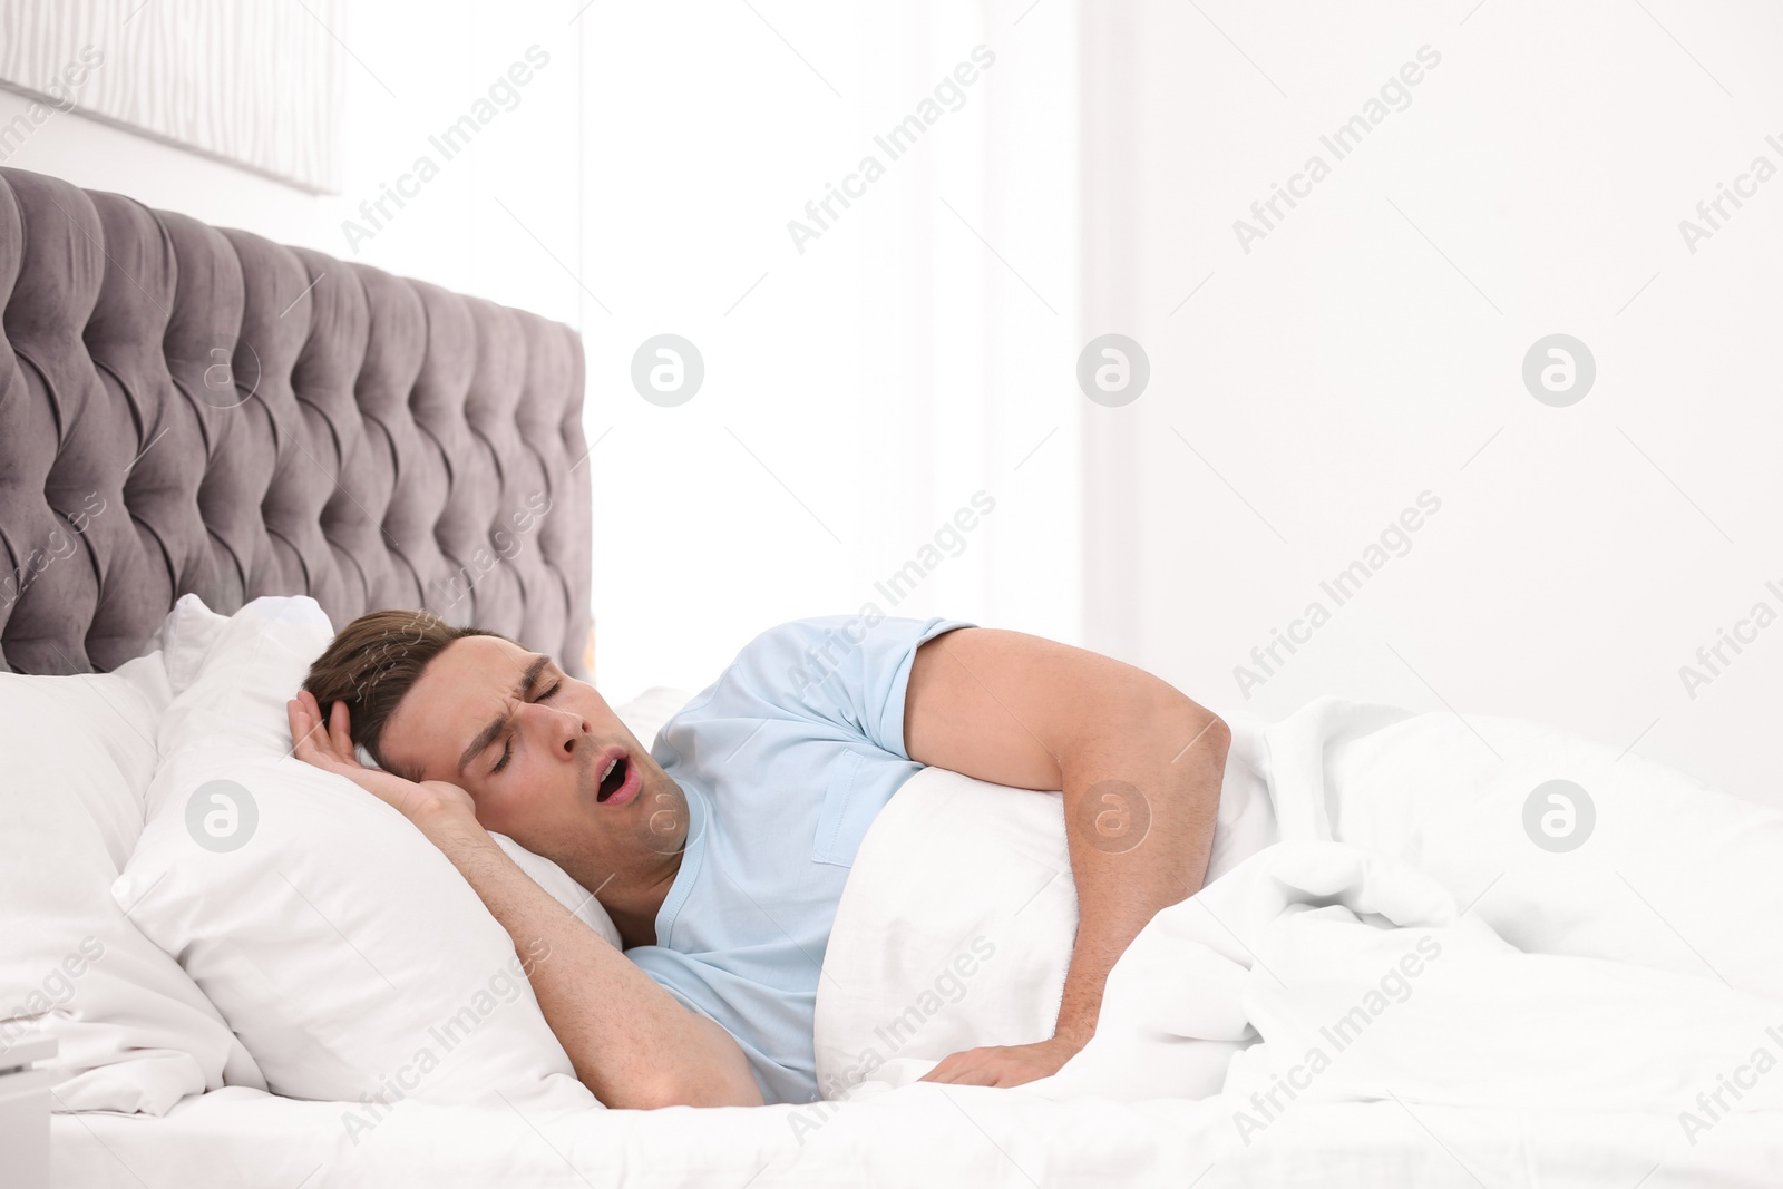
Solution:
[(1114, 959), (1161, 907), (1200, 890), (1227, 724), (1132, 665), (1039, 636), (961, 627), (916, 651), (904, 743), (918, 763), (1064, 790), (1077, 943), (1057, 1030), (1038, 1045), (954, 1054), (924, 1080), (1020, 1086), (1048, 1077), (1095, 1032)]

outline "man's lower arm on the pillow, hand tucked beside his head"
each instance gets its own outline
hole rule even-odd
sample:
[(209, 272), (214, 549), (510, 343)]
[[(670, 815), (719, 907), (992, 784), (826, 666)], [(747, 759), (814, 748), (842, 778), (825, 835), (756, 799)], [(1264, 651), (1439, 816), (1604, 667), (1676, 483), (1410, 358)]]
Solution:
[(316, 697), (287, 706), (298, 759), (346, 775), (414, 822), (451, 859), (521, 954), (549, 957), (528, 975), (576, 1077), (608, 1107), (760, 1107), (744, 1050), (683, 1007), (604, 938), (535, 884), (476, 822), (456, 784), (415, 784), (353, 756), (344, 702), (323, 726)]

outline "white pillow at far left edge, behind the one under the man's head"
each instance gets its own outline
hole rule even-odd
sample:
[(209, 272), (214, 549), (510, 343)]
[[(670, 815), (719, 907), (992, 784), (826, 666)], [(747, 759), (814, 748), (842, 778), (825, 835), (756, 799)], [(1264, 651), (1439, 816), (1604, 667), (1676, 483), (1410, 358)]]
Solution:
[(162, 1114), (225, 1082), (266, 1086), (216, 1007), (111, 898), (171, 697), (159, 649), (109, 674), (0, 674), (0, 1050), (57, 1037), (57, 1111)]

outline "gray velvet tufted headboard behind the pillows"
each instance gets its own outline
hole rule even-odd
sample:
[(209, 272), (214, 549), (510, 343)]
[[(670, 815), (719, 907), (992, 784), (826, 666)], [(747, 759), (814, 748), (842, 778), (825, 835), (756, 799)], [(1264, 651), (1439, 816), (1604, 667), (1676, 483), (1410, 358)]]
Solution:
[(0, 323), (0, 670), (111, 670), (196, 592), (426, 608), (588, 676), (569, 326), (20, 169)]

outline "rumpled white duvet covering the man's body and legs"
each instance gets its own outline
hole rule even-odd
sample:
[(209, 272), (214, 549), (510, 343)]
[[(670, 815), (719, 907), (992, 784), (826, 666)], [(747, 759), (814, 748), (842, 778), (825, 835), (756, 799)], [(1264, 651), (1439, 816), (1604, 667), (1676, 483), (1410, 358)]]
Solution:
[[(1063, 863), (1057, 795), (911, 781), (836, 918), (826, 1093), (1047, 1036), (1075, 927), (1068, 881), (1043, 882)], [(1783, 1111), (1776, 809), (1537, 724), (1325, 699), (1237, 733), (1212, 875), (1114, 966), (1089, 1046), (1025, 1093), (1220, 1096), (1239, 1146), (1309, 1103), (1396, 1100), (1639, 1111), (1667, 1119), (1662, 1152), (1701, 1155), (1730, 1116)], [(938, 986), (972, 939), (990, 961)]]

